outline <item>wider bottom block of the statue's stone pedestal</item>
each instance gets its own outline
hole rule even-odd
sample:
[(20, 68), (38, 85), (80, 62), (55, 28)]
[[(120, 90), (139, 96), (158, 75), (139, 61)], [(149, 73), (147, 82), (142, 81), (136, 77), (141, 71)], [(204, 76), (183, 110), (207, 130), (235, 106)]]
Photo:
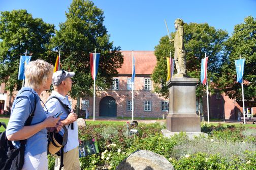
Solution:
[(171, 132), (201, 132), (200, 117), (195, 114), (168, 114), (167, 130)]

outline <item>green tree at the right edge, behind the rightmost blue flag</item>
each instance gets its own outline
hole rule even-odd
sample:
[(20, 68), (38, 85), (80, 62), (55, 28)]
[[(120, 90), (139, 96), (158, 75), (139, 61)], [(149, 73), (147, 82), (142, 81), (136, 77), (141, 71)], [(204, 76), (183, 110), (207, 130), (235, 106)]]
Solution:
[(245, 59), (244, 98), (256, 100), (256, 19), (249, 16), (244, 23), (234, 28), (232, 36), (225, 43), (227, 60), (221, 67), (218, 81), (219, 89), (226, 92), (229, 98), (242, 99), (241, 84), (236, 82), (235, 60)]

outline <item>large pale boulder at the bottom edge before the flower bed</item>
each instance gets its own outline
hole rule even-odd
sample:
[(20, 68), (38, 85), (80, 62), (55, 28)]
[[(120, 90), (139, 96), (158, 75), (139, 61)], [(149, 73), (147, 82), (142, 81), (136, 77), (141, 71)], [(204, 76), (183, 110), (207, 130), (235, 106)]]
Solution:
[(138, 150), (124, 159), (116, 170), (173, 170), (173, 165), (162, 155)]

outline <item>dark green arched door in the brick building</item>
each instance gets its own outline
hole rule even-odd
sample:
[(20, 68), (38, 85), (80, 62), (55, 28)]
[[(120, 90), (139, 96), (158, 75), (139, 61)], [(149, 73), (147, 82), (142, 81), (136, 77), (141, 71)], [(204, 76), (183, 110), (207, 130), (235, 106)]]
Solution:
[(106, 96), (101, 100), (100, 116), (116, 117), (116, 101), (114, 98)]

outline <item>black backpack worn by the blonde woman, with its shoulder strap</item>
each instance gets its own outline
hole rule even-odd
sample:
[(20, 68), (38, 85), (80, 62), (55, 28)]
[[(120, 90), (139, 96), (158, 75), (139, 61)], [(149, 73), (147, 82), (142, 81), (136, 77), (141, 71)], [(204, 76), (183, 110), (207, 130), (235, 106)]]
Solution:
[[(24, 91), (30, 90), (23, 90)], [(30, 91), (31, 92), (31, 91)], [(27, 118), (25, 125), (30, 125), (31, 121), (35, 115), (36, 110), (36, 97), (34, 97), (35, 107), (33, 111), (30, 113), (29, 117)], [(6, 129), (6, 123), (0, 122), (0, 127), (4, 126)], [(0, 133), (0, 169), (1, 170), (19, 170), (22, 169), (24, 164), (24, 156), (25, 156), (25, 147), (26, 147), (26, 139), (20, 141), (20, 147), (15, 148), (12, 144), (12, 141), (9, 141), (6, 138), (6, 131)]]

